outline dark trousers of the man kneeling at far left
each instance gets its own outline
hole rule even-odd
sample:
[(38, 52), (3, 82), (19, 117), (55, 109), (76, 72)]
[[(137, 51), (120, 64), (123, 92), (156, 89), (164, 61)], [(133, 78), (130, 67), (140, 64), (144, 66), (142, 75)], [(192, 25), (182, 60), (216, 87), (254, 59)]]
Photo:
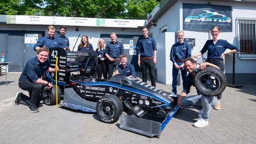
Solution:
[(22, 90), (29, 92), (29, 97), (25, 94), (21, 94), (21, 101), (27, 103), (29, 106), (39, 106), (40, 103), (40, 91), (43, 88), (43, 84), (32, 83), (28, 80), (19, 81), (19, 87)]

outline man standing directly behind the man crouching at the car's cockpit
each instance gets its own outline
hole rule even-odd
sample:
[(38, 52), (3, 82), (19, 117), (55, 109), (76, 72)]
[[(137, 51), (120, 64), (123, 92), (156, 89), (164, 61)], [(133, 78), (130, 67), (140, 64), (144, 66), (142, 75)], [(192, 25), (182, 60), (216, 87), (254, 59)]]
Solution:
[(112, 77), (114, 68), (120, 63), (120, 55), (124, 54), (124, 45), (116, 41), (116, 38), (116, 33), (111, 33), (111, 42), (106, 46), (105, 55), (108, 58), (108, 78)]

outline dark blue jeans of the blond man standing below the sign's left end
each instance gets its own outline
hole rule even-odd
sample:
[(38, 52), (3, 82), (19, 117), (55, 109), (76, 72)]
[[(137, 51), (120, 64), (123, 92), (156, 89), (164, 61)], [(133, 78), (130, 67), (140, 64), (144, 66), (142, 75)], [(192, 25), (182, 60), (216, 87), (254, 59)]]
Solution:
[[(179, 66), (183, 64), (183, 62), (176, 62)], [(183, 68), (181, 71), (182, 77), (182, 85), (183, 89), (186, 89), (186, 77), (187, 77), (187, 70)], [(179, 69), (175, 68), (174, 64), (172, 65), (172, 92), (177, 94), (177, 76), (179, 74)]]

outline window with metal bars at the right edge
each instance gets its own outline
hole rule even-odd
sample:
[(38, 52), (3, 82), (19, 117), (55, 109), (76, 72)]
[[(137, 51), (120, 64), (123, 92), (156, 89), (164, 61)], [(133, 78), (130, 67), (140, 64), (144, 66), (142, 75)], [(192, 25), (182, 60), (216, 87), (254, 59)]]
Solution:
[(256, 57), (256, 19), (239, 18), (239, 47), (243, 57)]

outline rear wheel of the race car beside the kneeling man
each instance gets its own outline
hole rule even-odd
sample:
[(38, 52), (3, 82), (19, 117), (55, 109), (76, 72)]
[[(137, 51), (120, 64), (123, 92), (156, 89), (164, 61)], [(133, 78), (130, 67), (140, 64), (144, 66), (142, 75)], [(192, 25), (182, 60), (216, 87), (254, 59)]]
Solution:
[[(61, 99), (61, 90), (60, 87), (58, 86), (58, 103), (60, 102)], [(43, 102), (45, 105), (55, 105), (56, 104), (56, 86), (53, 85), (53, 87), (50, 89), (49, 87), (45, 86), (42, 92), (42, 97), (43, 97)]]

